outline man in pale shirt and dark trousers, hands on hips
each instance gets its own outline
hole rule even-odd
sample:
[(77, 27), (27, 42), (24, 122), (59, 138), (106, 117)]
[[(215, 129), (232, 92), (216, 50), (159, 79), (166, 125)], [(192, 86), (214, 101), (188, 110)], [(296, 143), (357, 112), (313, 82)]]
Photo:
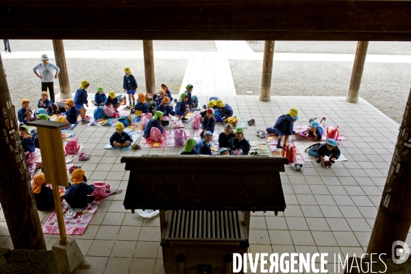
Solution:
[[(41, 63), (34, 66), (34, 74), (41, 79), (41, 91), (47, 91), (49, 88), (49, 94), (51, 101), (54, 100), (54, 79), (57, 79), (60, 69), (55, 64), (49, 63), (49, 57), (47, 54), (41, 55)], [(40, 75), (37, 73), (37, 70), (40, 72)], [(55, 75), (53, 75), (53, 70), (55, 70)]]

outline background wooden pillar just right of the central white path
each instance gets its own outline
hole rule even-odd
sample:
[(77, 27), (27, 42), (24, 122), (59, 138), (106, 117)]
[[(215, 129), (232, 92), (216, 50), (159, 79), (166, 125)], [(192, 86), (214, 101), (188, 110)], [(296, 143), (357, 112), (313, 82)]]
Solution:
[(271, 101), (271, 76), (273, 75), (274, 41), (264, 42), (260, 101)]

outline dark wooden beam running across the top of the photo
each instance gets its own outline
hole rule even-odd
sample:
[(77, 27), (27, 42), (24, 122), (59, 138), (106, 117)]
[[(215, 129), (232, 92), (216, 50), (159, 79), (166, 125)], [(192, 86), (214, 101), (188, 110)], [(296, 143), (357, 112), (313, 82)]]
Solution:
[[(133, 16), (124, 20), (124, 10)], [(409, 0), (8, 0), (0, 2), (0, 32), (10, 39), (409, 41), (410, 10)], [(34, 16), (46, 11), (47, 21)], [(159, 20), (161, 13), (173, 20)]]

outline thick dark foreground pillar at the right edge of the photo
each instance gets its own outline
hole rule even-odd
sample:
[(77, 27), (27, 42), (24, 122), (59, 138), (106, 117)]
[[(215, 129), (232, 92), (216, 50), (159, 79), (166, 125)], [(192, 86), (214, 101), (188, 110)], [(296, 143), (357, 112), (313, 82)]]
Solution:
[(411, 225), (410, 193), (411, 90), (367, 253), (386, 253), (391, 257), (393, 242), (406, 241)]

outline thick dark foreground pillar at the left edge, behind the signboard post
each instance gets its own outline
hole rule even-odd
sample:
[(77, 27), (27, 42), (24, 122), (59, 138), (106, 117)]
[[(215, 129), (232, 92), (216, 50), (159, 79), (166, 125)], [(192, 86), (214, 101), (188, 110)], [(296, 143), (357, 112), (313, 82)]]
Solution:
[[(20, 102), (17, 105), (19, 107)], [(1, 55), (0, 110), (0, 202), (10, 238), (15, 249), (47, 249)]]

